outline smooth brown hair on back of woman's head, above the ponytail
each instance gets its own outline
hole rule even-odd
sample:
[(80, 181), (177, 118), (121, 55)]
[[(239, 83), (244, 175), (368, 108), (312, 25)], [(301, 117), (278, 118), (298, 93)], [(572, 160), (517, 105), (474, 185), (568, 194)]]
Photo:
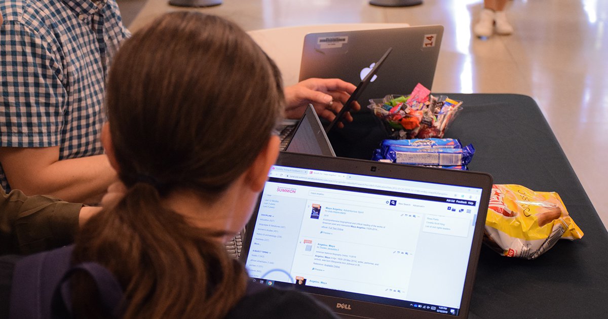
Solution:
[(120, 178), (213, 195), (252, 163), (282, 111), (274, 64), (239, 27), (170, 13), (114, 59), (108, 119)]

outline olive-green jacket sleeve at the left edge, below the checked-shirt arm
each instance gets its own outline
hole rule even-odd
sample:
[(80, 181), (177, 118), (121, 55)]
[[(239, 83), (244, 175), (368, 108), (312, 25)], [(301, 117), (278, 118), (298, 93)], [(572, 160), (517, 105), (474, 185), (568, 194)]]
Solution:
[(0, 255), (41, 252), (74, 241), (82, 204), (0, 190)]

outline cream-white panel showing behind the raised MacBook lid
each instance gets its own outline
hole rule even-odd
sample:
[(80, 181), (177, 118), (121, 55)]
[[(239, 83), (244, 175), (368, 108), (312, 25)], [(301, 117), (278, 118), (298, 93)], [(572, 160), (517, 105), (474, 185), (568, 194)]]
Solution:
[(304, 36), (308, 33), (352, 30), (390, 29), (409, 27), (407, 23), (323, 24), (314, 26), (280, 27), (252, 30), (247, 33), (277, 63), (283, 74), (283, 83), (289, 86), (298, 82)]

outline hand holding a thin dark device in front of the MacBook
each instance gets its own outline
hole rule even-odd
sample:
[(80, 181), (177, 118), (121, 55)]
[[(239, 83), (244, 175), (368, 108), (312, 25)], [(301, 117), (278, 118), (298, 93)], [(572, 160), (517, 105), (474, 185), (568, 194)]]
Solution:
[[(311, 103), (319, 117), (333, 121), (336, 113), (342, 109), (354, 89), (356, 86), (353, 84), (337, 78), (309, 78), (293, 86), (285, 87), (285, 100), (287, 101), (285, 117), (302, 117), (306, 106)], [(361, 109), (359, 103), (354, 102), (351, 105), (352, 111), (359, 111), (359, 109)], [(350, 112), (344, 114), (344, 119), (348, 122), (353, 121)], [(338, 123), (338, 127), (343, 126), (342, 123)]]

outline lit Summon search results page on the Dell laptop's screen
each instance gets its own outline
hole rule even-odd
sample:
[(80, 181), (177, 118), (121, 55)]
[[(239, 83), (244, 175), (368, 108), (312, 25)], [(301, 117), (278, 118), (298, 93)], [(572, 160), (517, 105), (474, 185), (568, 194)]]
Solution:
[(457, 314), (481, 190), (274, 166), (252, 278)]

